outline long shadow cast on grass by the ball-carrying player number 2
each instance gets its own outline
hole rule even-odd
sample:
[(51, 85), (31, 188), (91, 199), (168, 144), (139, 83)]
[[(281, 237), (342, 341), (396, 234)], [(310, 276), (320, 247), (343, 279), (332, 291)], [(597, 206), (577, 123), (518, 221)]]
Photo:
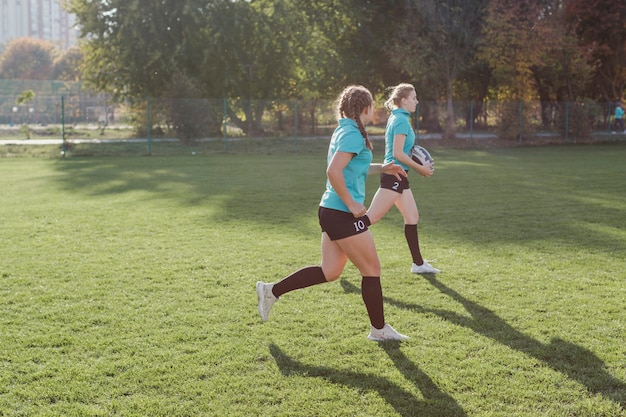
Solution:
[[(423, 277), (443, 294), (463, 305), (471, 317), (448, 310), (424, 308), (418, 304), (388, 297), (385, 297), (385, 302), (406, 310), (432, 313), (451, 323), (471, 329), (545, 363), (555, 371), (584, 385), (590, 393), (599, 394), (626, 409), (626, 383), (608, 373), (605, 363), (590, 350), (559, 338), (552, 339), (549, 344), (541, 343), (516, 330), (487, 308), (447, 287), (434, 275), (425, 274)], [(341, 280), (341, 286), (347, 293), (361, 293), (360, 288), (344, 279)]]

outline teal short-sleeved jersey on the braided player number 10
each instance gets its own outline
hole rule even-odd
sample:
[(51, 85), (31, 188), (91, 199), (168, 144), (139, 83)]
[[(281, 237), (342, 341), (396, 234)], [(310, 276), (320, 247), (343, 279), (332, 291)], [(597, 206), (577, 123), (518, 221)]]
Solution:
[[(363, 139), (359, 127), (352, 119), (339, 119), (339, 126), (333, 132), (328, 145), (327, 166), (337, 152), (354, 154), (354, 157), (343, 169), (343, 177), (354, 201), (364, 204), (365, 180), (373, 156), (372, 151), (367, 149), (365, 139)], [(326, 191), (322, 195), (320, 206), (350, 212), (348, 206), (339, 198), (329, 180), (326, 180)]]

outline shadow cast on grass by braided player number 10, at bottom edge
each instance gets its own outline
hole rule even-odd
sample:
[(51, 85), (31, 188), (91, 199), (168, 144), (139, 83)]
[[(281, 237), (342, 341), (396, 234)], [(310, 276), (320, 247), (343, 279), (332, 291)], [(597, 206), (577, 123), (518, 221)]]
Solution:
[(439, 390), (426, 373), (408, 360), (398, 348), (398, 343), (382, 345), (396, 367), (422, 392), (424, 399), (415, 398), (410, 392), (380, 376), (300, 363), (287, 356), (274, 344), (270, 344), (270, 353), (285, 376), (322, 378), (333, 384), (361, 391), (377, 391), (402, 416), (466, 416), (452, 397)]

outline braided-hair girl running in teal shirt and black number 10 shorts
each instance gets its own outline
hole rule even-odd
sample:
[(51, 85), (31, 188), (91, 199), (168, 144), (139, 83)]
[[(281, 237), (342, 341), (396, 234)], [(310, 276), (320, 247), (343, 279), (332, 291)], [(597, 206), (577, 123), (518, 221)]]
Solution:
[(349, 86), (337, 100), (338, 126), (327, 156), (326, 191), (318, 209), (322, 229), (322, 263), (307, 266), (276, 283), (256, 284), (259, 314), (267, 321), (270, 309), (284, 294), (335, 281), (349, 259), (360, 271), (361, 295), (370, 319), (369, 340), (404, 340), (385, 321), (380, 284), (380, 262), (366, 216), (365, 180), (368, 174), (385, 173), (400, 181), (401, 166), (372, 164), (372, 143), (365, 125), (372, 120), (372, 94), (362, 86)]

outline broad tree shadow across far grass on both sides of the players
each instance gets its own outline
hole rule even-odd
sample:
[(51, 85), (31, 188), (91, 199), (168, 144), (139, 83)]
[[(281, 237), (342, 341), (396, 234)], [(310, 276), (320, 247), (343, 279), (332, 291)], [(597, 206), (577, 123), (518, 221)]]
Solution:
[[(259, 144), (247, 152), (259, 151)], [(321, 151), (327, 142), (317, 146)], [(285, 158), (285, 154), (191, 156), (195, 148), (181, 149), (186, 156), (69, 158), (56, 164), (61, 175), (55, 180), (81, 198), (141, 191), (145, 199), (210, 207), (215, 222), (243, 219), (307, 236), (319, 233), (316, 212), (326, 181), (325, 151)], [(439, 213), (432, 215), (430, 227), (454, 239), (494, 246), (527, 241), (540, 248), (563, 245), (621, 254), (626, 250), (621, 233), (623, 192), (614, 186), (622, 175), (621, 160), (610, 162), (606, 172), (589, 170), (584, 176), (579, 172), (582, 156), (586, 163), (603, 163), (607, 155), (617, 155), (611, 161), (620, 157), (619, 149), (594, 147), (593, 158), (588, 149), (581, 153), (572, 147), (451, 152), (435, 182), (420, 184), (432, 198), (419, 204), (424, 213)], [(467, 175), (467, 164), (472, 175)], [(376, 178), (370, 178), (368, 203), (377, 187)], [(381, 228), (395, 230), (400, 214), (392, 210), (387, 217)], [(468, 222), (468, 217), (474, 221)]]

